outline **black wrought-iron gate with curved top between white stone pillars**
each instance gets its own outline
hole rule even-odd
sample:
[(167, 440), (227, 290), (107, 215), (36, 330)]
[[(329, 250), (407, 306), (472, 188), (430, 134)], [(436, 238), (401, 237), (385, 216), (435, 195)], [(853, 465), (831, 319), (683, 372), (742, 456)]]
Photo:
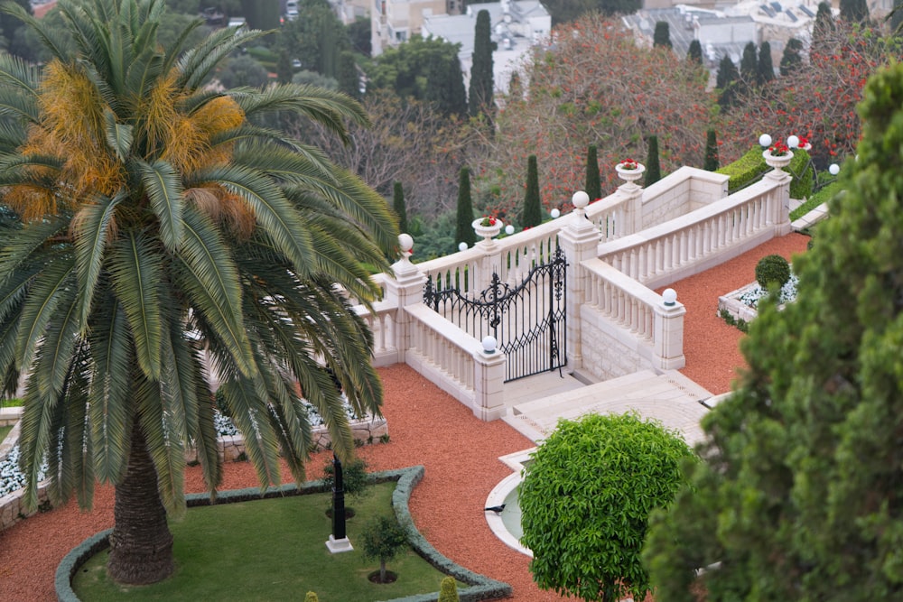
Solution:
[(492, 274), (489, 288), (476, 296), (460, 286), (435, 290), (433, 277), (424, 286), (424, 303), (470, 336), (491, 335), (507, 356), (505, 382), (567, 364), (567, 261), (561, 247), (547, 264), (535, 265), (516, 286)]

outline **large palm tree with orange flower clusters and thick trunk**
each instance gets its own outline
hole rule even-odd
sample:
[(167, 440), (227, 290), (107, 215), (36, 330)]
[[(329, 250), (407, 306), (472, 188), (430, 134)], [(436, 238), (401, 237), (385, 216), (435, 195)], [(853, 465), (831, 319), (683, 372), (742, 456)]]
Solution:
[[(342, 458), (340, 391), (379, 412), (372, 336), (349, 298), (377, 289), (397, 227), (386, 202), (319, 149), (255, 125), (293, 112), (345, 137), (355, 101), (296, 85), (216, 91), (220, 60), (260, 35), (213, 32), (160, 48), (163, 0), (60, 3), (66, 34), (14, 14), (51, 52), (42, 69), (0, 54), (0, 374), (27, 375), (20, 436), (37, 504), (90, 507), (116, 486), (111, 576), (172, 571), (166, 515), (185, 508), (184, 449), (215, 495), (221, 470), (207, 361), (261, 487), (296, 481), (308, 400)], [(206, 359), (205, 359), (206, 358)]]

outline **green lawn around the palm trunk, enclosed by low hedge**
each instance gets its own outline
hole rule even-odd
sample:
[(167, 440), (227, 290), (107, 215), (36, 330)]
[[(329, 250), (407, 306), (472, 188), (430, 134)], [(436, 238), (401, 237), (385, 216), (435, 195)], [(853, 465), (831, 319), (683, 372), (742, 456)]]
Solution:
[[(396, 483), (370, 486), (351, 500), (357, 515), (348, 522), (352, 545), (377, 513), (391, 514)], [(386, 567), (398, 573), (389, 585), (368, 574), (379, 568), (355, 551), (330, 554), (325, 510), (328, 494), (297, 495), (189, 509), (172, 523), (176, 572), (152, 586), (123, 587), (107, 579), (107, 551), (88, 560), (72, 579), (81, 600), (302, 600), (315, 591), (321, 602), (388, 600), (439, 590), (442, 573), (414, 551)], [(460, 584), (459, 587), (463, 587)]]

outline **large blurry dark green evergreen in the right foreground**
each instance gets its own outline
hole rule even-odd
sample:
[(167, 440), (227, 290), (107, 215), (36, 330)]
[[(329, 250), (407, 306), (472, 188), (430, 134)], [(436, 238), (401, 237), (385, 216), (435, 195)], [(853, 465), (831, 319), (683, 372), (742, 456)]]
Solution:
[(903, 599), (903, 170), (888, 151), (903, 65), (870, 78), (859, 113), (845, 192), (794, 258), (796, 302), (760, 306), (749, 368), (703, 422), (694, 491), (650, 529), (656, 600)]

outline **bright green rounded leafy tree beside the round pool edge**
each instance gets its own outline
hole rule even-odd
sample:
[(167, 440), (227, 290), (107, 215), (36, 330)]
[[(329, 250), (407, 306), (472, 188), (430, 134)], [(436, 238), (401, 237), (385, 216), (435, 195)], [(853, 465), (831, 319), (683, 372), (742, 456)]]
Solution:
[(648, 515), (674, 497), (688, 458), (680, 437), (636, 414), (559, 421), (520, 488), (521, 542), (539, 587), (605, 602), (645, 597)]

